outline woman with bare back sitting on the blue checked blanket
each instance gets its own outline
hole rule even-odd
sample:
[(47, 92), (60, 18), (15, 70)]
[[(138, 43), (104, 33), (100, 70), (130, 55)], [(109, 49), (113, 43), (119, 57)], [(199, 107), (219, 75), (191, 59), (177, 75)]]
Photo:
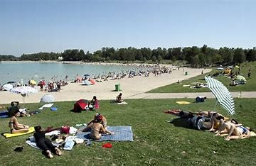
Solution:
[(102, 115), (97, 116), (95, 122), (92, 123), (92, 128), (90, 132), (90, 137), (94, 140), (99, 140), (102, 136), (102, 133), (114, 134), (114, 132), (108, 131), (102, 125)]

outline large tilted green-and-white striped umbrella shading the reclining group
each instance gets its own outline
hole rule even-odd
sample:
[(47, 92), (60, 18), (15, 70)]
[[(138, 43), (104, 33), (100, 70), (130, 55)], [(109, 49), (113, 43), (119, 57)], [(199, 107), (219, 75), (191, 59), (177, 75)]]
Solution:
[(230, 94), (227, 87), (225, 87), (223, 83), (219, 82), (217, 79), (213, 79), (212, 77), (206, 76), (205, 79), (208, 84), (208, 88), (211, 92), (213, 92), (215, 98), (217, 99), (217, 102), (219, 102), (220, 105), (223, 106), (223, 108), (227, 110), (229, 114), (235, 114), (235, 104), (233, 96)]

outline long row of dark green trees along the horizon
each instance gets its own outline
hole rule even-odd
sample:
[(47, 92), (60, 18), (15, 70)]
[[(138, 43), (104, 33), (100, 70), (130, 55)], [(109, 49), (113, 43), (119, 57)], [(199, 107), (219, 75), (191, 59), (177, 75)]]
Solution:
[(21, 57), (12, 55), (0, 55), (0, 60), (58, 60), (63, 57), (63, 61), (83, 61), (83, 62), (161, 62), (162, 60), (186, 61), (193, 67), (204, 67), (213, 64), (239, 64), (242, 62), (252, 62), (256, 60), (256, 48), (210, 48), (207, 45), (199, 48), (197, 46), (185, 48), (102, 48), (95, 52), (86, 53), (84, 50), (69, 49), (61, 53), (38, 52), (33, 54), (23, 54)]

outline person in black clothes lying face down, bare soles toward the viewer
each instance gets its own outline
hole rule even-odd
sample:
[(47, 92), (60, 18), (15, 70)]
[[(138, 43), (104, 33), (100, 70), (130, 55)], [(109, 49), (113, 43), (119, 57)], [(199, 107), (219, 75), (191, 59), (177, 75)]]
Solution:
[(43, 150), (43, 153), (45, 153), (49, 158), (53, 157), (52, 153), (62, 155), (61, 151), (54, 146), (48, 138), (46, 138), (46, 131), (42, 131), (41, 126), (36, 126), (35, 131), (36, 133), (33, 134), (33, 137), (35, 138), (36, 145)]

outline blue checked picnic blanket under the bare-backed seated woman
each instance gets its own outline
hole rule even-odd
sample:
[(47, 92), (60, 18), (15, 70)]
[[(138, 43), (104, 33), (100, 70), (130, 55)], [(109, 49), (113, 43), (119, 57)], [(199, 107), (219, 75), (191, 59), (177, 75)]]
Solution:
[[(82, 128), (85, 128), (85, 126)], [(81, 132), (82, 128), (79, 129), (76, 136), (83, 140), (91, 139), (90, 131), (89, 132)], [(105, 141), (105, 140), (133, 141), (132, 126), (107, 126), (107, 130), (114, 132), (114, 134), (113, 135), (102, 135), (100, 140), (97, 140), (97, 141)]]

